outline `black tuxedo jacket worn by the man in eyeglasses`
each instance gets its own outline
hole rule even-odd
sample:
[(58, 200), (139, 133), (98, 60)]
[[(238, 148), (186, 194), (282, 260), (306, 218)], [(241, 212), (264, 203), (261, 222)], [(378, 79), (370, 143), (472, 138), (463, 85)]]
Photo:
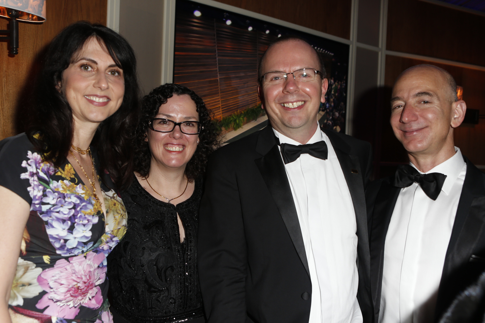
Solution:
[[(372, 166), (371, 147), (335, 131), (325, 133), (339, 158), (356, 212), (358, 299), (364, 322), (371, 322), (364, 193)], [(308, 322), (312, 290), (307, 256), (270, 126), (210, 156), (200, 204), (197, 257), (210, 323)]]

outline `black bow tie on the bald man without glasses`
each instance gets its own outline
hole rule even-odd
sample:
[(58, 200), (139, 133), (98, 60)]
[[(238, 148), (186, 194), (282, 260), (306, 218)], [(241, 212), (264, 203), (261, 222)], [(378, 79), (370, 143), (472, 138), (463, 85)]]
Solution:
[(420, 172), (411, 165), (400, 165), (394, 178), (394, 186), (407, 187), (414, 182), (421, 186), (424, 194), (431, 200), (438, 198), (441, 187), (445, 183), (446, 175), (441, 173), (420, 174)]

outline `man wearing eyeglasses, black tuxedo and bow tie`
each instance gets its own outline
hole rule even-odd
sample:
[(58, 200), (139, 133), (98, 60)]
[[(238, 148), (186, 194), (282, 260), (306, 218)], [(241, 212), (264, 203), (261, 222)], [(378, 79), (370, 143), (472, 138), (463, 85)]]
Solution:
[(307, 42), (278, 39), (259, 66), (271, 126), (210, 157), (198, 237), (209, 323), (372, 321), (371, 147), (320, 130), (325, 77)]

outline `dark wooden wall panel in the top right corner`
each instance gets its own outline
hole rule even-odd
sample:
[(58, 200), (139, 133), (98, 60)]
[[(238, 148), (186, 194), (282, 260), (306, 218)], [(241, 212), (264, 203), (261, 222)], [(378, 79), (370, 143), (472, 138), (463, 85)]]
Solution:
[(485, 66), (485, 17), (419, 0), (389, 0), (387, 48)]

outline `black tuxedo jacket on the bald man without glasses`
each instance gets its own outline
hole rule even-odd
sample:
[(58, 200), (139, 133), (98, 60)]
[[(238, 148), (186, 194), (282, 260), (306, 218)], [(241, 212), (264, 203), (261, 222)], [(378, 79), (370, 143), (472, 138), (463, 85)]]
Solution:
[[(464, 159), (467, 174), (446, 251), (435, 321), (450, 306), (453, 298), (485, 269), (485, 174), (466, 157)], [(401, 188), (392, 185), (390, 177), (373, 181), (366, 191), (375, 322), (381, 303), (384, 243), (400, 191)]]

